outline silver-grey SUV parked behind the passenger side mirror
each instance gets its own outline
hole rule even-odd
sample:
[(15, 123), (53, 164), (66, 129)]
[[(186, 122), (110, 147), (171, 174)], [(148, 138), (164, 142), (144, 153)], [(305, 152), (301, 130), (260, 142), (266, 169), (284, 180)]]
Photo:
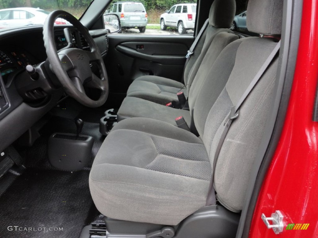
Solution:
[(140, 33), (146, 31), (148, 15), (141, 2), (123, 1), (114, 3), (109, 13), (114, 13), (120, 18), (122, 29), (137, 27)]

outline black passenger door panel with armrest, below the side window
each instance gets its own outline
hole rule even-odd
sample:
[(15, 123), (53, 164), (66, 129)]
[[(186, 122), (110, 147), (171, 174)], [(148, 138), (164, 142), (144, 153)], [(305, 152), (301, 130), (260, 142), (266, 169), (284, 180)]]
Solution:
[(193, 36), (109, 34), (108, 41), (106, 68), (110, 90), (126, 93), (133, 80), (143, 75), (162, 76), (180, 82), (185, 55)]

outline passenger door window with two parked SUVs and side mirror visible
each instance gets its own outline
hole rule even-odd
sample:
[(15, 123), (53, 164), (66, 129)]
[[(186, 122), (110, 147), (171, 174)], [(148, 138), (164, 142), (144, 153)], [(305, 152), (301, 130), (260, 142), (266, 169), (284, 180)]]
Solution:
[(193, 36), (196, 8), (197, 0), (111, 0), (103, 14), (104, 25), (110, 33), (120, 35)]

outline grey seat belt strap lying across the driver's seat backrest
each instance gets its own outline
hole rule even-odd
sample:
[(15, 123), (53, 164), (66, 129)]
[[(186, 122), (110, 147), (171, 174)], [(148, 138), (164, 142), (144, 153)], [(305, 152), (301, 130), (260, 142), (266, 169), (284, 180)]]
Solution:
[(213, 177), (214, 177), (214, 172), (215, 172), (215, 166), (217, 164), (218, 155), (220, 153), (220, 150), (222, 148), (223, 142), (225, 140), (225, 136), (226, 136), (227, 132), (229, 131), (233, 120), (235, 120), (236, 118), (239, 117), (239, 108), (240, 108), (240, 106), (243, 104), (243, 102), (245, 101), (247, 96), (251, 93), (252, 89), (255, 87), (255, 85), (257, 84), (259, 79), (262, 77), (262, 75), (264, 74), (264, 72), (266, 71), (268, 66), (271, 64), (271, 62), (275, 58), (275, 56), (276, 56), (277, 52), (279, 51), (279, 49), (280, 49), (280, 41), (277, 43), (277, 45), (275, 46), (273, 51), (270, 53), (270, 55), (267, 57), (266, 61), (262, 65), (262, 67), (259, 69), (257, 74), (254, 76), (254, 78), (252, 79), (251, 83), (248, 85), (247, 89), (245, 90), (245, 92), (243, 93), (243, 95), (241, 96), (241, 98), (239, 99), (237, 104), (231, 108), (231, 111), (228, 114), (228, 117), (226, 118), (226, 120), (224, 122), (224, 126), (225, 127), (224, 127), (223, 133), (221, 135), (221, 138), (220, 138), (220, 140), (218, 142), (217, 149), (216, 149), (215, 154), (214, 154), (213, 166), (212, 166), (212, 175), (211, 175), (209, 192), (208, 192), (208, 196), (207, 196), (207, 199), (206, 199), (206, 206), (209, 206), (211, 204), (215, 204), (215, 193), (214, 193), (214, 187), (213, 187)]

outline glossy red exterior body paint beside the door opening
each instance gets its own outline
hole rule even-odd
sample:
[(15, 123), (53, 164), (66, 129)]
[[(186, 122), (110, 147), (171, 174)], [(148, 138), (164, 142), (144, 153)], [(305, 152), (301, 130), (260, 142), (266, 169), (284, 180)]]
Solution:
[[(250, 236), (318, 237), (318, 122), (312, 121), (318, 79), (318, 1), (304, 0), (294, 82), (284, 128), (261, 188)], [(275, 210), (284, 231), (275, 235), (261, 219)], [(288, 223), (309, 223), (307, 230), (286, 230)]]

